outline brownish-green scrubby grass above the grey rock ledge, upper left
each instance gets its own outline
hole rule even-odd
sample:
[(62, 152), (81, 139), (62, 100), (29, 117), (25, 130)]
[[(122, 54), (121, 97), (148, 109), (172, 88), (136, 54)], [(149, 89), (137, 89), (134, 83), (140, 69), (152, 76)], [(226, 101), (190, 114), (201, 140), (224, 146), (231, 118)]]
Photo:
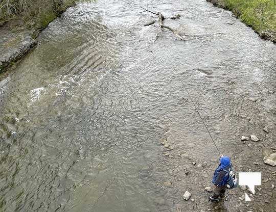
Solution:
[(1, 0), (0, 25), (13, 22), (29, 29), (43, 29), (76, 0)]

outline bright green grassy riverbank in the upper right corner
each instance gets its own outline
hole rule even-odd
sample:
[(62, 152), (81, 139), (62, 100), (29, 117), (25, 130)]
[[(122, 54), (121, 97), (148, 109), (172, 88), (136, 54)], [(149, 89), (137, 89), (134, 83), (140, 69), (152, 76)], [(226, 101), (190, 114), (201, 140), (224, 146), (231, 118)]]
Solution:
[(247, 26), (250, 26), (261, 38), (276, 43), (276, 5), (274, 0), (206, 1), (217, 7), (232, 11), (236, 17), (239, 17)]

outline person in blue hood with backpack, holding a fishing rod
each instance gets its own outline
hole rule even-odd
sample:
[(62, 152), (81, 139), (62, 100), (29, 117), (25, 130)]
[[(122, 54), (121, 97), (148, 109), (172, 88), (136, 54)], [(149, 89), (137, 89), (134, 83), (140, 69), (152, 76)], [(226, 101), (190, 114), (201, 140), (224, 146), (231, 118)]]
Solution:
[(233, 189), (237, 187), (237, 178), (234, 174), (230, 158), (228, 156), (220, 155), (220, 164), (214, 172), (213, 180), (213, 195), (209, 200), (218, 202), (226, 198), (226, 189)]

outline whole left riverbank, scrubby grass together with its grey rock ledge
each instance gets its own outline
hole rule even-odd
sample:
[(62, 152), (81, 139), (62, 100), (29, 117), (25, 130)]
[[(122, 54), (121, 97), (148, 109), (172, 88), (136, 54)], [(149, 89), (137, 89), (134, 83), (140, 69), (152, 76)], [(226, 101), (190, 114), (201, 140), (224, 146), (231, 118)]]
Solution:
[(8, 68), (37, 44), (39, 33), (76, 1), (40, 0), (39, 4), (31, 4), (31, 1), (29, 5), (13, 4), (3, 1), (0, 5), (0, 80)]

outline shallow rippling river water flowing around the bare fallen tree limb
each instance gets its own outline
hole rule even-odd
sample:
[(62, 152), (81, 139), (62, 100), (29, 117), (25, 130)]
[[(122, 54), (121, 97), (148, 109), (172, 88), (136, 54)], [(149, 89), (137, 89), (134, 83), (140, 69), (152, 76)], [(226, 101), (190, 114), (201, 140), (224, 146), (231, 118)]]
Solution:
[[(180, 14), (165, 23), (186, 40), (164, 30), (151, 42), (140, 6)], [(0, 210), (276, 211), (276, 169), (261, 155), (276, 138), (275, 56), (203, 0), (68, 9), (1, 82)], [(236, 172), (262, 172), (251, 202), (239, 188), (208, 201), (219, 152), (182, 83)], [(250, 134), (261, 141), (240, 141)]]

